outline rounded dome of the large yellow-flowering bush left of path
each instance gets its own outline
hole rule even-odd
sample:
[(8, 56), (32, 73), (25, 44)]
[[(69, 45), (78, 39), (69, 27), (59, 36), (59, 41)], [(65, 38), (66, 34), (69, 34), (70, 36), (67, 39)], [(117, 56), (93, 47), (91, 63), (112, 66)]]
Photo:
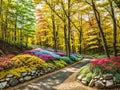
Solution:
[(16, 67), (27, 66), (29, 68), (34, 68), (34, 69), (44, 67), (45, 64), (45, 61), (43, 61), (42, 59), (28, 54), (17, 55), (16, 57), (12, 58), (12, 61), (18, 63)]

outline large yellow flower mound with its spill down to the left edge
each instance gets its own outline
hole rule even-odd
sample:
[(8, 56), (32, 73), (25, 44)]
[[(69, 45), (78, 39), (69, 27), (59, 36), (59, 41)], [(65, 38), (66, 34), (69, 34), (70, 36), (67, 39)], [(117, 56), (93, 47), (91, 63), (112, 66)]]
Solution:
[(20, 77), (22, 72), (30, 72), (40, 67), (48, 66), (48, 64), (42, 59), (28, 54), (17, 55), (11, 60), (17, 62), (18, 65), (12, 67), (11, 69), (1, 71), (0, 79), (4, 78), (7, 74), (13, 74)]

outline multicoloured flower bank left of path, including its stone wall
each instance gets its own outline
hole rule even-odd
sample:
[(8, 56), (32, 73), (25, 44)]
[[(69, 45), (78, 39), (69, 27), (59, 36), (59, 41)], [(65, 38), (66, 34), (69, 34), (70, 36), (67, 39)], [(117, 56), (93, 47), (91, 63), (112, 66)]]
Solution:
[[(41, 48), (27, 50), (19, 55), (0, 58), (0, 88), (15, 86), (19, 83), (61, 69), (83, 57), (71, 54), (70, 58)], [(40, 55), (44, 57), (40, 57)]]

